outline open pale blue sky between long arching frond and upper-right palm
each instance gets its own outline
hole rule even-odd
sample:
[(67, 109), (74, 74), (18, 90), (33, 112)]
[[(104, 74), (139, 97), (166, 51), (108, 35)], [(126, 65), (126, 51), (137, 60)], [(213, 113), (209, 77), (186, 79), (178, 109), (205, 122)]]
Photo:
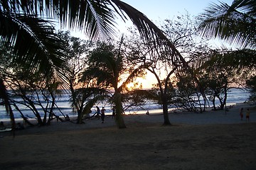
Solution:
[[(191, 16), (198, 16), (203, 13), (210, 4), (220, 4), (218, 0), (122, 0), (125, 3), (137, 8), (137, 10), (144, 13), (156, 25), (158, 21), (165, 19), (172, 19), (175, 16), (181, 16), (186, 11)], [(222, 2), (231, 5), (233, 0), (222, 0)], [(131, 22), (122, 23), (118, 22), (120, 33), (132, 26)]]

